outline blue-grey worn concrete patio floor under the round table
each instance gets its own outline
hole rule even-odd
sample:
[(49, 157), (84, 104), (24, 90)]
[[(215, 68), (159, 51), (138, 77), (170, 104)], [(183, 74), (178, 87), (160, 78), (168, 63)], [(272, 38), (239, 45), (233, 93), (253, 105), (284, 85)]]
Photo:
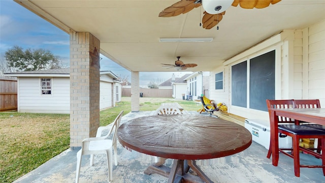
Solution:
[[(189, 111), (190, 114), (199, 114)], [(151, 111), (130, 112), (122, 117), (125, 121), (151, 114)], [(129, 151), (118, 142), (118, 166), (113, 162), (113, 182), (167, 182), (164, 176), (146, 175), (143, 171), (154, 162), (154, 157)], [(34, 171), (18, 178), (14, 182), (75, 182), (76, 154), (78, 150), (67, 149), (52, 158)], [(252, 142), (251, 146), (241, 153), (211, 160), (199, 160), (197, 165), (214, 182), (325, 182), (321, 168), (301, 168), (300, 177), (294, 174), (293, 159), (280, 154), (277, 167), (272, 159), (266, 158), (267, 149)], [(321, 164), (321, 160), (310, 155), (300, 154), (303, 164)], [(166, 165), (171, 166), (172, 160)], [(83, 156), (79, 182), (108, 182), (107, 160), (103, 155), (94, 157), (94, 165), (89, 166), (89, 156)]]

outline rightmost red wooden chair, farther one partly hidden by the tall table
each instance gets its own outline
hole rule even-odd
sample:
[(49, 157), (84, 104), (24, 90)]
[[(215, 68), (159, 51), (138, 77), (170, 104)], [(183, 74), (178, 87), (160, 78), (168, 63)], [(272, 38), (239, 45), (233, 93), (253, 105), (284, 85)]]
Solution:
[[(320, 108), (320, 102), (318, 99), (308, 99), (308, 100), (294, 100), (294, 107), (295, 108)], [(306, 123), (305, 121), (300, 121), (300, 123)], [(315, 128), (318, 130), (325, 131), (325, 126), (318, 125), (318, 124), (306, 124), (307, 127)], [(321, 150), (321, 139), (318, 139), (317, 148), (311, 148), (313, 150), (316, 150), (317, 153), (320, 154)]]

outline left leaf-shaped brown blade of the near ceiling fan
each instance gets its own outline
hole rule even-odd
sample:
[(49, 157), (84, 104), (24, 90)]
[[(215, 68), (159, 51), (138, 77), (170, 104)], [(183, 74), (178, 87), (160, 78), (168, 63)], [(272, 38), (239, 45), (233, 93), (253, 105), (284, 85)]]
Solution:
[(194, 4), (194, 0), (182, 0), (166, 8), (159, 13), (159, 17), (172, 17), (187, 13), (194, 8), (200, 7), (201, 3)]

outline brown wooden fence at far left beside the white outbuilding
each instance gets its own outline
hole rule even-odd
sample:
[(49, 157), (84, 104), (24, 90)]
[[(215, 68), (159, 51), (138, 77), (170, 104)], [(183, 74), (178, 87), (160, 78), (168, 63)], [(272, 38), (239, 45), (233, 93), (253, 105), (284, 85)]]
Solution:
[(0, 77), (0, 111), (17, 109), (17, 79)]

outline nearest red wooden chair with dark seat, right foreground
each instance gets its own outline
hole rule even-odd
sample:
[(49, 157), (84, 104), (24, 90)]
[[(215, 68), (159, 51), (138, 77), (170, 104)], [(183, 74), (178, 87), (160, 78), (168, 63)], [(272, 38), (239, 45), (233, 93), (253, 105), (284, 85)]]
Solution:
[[(268, 108), (293, 108), (294, 107), (294, 100), (266, 100)], [(271, 121), (271, 112), (269, 110), (270, 114), (270, 121)], [(293, 138), (293, 148), (279, 148), (279, 151), (283, 153), (284, 155), (293, 158), (294, 159), (294, 169), (295, 169), (295, 175), (297, 177), (300, 176), (300, 167), (305, 168), (322, 168), (323, 174), (325, 175), (325, 154), (319, 155), (318, 153), (315, 153), (314, 151), (300, 147), (299, 146), (299, 139), (300, 138), (318, 138), (321, 139), (321, 149), (322, 151), (325, 151), (325, 131), (317, 130), (314, 128), (307, 127), (305, 125), (297, 125), (297, 121), (294, 119), (278, 116), (275, 118), (275, 123), (278, 123), (278, 131), (280, 134), (284, 134), (287, 136), (290, 136)], [(276, 134), (278, 135), (278, 134)], [(274, 145), (274, 142), (270, 142), (270, 148), (267, 155), (267, 158), (271, 158), (271, 150), (272, 145)], [(292, 153), (289, 154), (285, 150), (291, 150)], [(307, 154), (311, 154), (317, 158), (322, 159), (322, 165), (301, 165), (300, 164), (300, 157), (299, 157), (299, 150), (303, 150)], [(277, 159), (276, 162), (279, 160)]]

